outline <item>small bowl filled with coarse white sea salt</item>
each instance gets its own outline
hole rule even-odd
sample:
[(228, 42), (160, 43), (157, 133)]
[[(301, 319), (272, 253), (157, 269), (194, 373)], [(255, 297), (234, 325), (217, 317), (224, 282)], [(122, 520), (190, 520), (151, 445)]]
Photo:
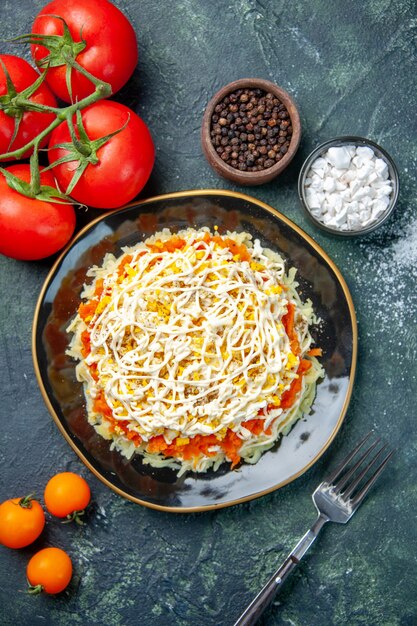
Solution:
[(399, 177), (391, 156), (364, 137), (330, 139), (307, 157), (298, 195), (316, 226), (337, 235), (364, 235), (381, 226), (397, 203)]

